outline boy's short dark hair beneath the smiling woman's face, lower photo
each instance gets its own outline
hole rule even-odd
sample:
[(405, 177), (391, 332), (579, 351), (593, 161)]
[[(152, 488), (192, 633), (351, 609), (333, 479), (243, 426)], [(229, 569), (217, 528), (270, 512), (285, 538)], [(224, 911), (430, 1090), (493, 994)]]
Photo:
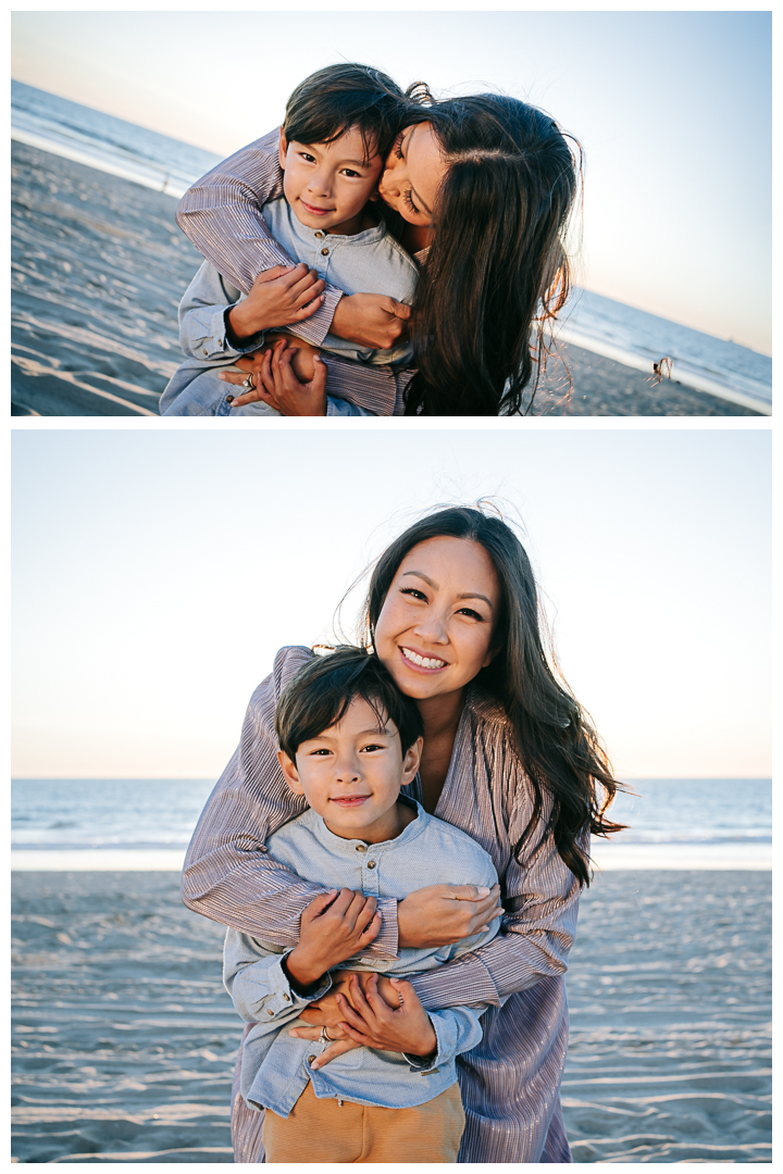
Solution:
[(403, 754), (424, 735), (418, 706), (399, 691), (378, 657), (343, 645), (326, 656), (316, 656), (283, 690), (275, 710), (281, 750), (293, 760), (303, 742), (342, 721), (356, 697), (374, 709), (380, 729), (390, 720), (394, 723)]

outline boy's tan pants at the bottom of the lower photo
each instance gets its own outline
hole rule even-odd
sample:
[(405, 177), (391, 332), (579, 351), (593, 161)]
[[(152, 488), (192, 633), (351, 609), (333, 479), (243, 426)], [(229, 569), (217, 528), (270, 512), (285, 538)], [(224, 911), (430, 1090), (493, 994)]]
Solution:
[(459, 1085), (426, 1105), (379, 1108), (318, 1100), (309, 1084), (288, 1118), (266, 1109), (264, 1149), (268, 1162), (455, 1162), (464, 1128)]

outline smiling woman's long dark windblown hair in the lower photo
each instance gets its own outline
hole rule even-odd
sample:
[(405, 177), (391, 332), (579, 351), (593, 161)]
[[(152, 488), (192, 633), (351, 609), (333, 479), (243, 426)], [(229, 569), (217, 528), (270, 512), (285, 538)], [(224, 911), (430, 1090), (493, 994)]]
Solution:
[[(521, 852), (531, 848), (546, 791), (552, 812), (544, 835), (552, 832), (565, 863), (588, 885), (589, 855), (581, 841), (588, 829), (595, 836), (622, 830), (623, 824), (606, 818), (622, 783), (614, 778), (588, 715), (547, 660), (535, 576), (512, 528), (497, 515), (468, 507), (438, 510), (409, 527), (373, 569), (363, 640), (365, 645), (374, 642), (378, 616), (403, 559), (419, 542), (443, 537), (482, 546), (500, 583), (501, 605), (493, 630), (497, 653), (477, 681), (502, 706), (533, 788), (533, 811), (514, 855), (521, 863)], [(536, 846), (532, 845), (533, 850)]]

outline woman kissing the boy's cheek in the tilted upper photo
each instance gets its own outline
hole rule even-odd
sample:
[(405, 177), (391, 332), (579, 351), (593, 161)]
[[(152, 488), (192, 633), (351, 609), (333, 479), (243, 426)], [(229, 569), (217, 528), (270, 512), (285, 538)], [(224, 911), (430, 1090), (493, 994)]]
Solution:
[[(479, 94), (436, 103), (420, 83), (409, 99), (379, 193), (399, 215), (400, 243), (426, 264), (411, 329), (417, 371), (397, 375), (393, 412), (515, 413), (532, 385), (529, 410), (546, 357), (544, 326), (569, 291), (565, 235), (578, 190), (574, 155), (552, 119), (517, 99)], [(268, 248), (261, 204), (279, 175), (272, 160), (262, 166), (262, 143), (204, 176), (177, 212), (200, 251), (245, 292), (270, 256), (289, 263), (283, 250)], [(359, 345), (390, 346), (405, 329), (382, 299), (338, 296), (328, 289), (324, 306), (297, 333), (316, 345), (329, 329)], [(261, 376), (259, 364), (239, 365)], [(349, 385), (358, 378), (342, 365), (338, 376)], [(383, 373), (363, 371), (360, 378), (371, 399), (389, 394), (389, 375), (384, 382)], [(331, 390), (339, 394), (339, 384)]]

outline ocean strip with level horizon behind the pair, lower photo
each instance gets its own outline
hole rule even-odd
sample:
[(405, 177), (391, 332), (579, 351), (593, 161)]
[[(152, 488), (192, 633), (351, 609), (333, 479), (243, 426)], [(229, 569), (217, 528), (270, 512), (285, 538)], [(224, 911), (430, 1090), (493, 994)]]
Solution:
[[(646, 778), (593, 841), (601, 869), (771, 868), (771, 781)], [(12, 866), (180, 869), (212, 780), (15, 780)]]

